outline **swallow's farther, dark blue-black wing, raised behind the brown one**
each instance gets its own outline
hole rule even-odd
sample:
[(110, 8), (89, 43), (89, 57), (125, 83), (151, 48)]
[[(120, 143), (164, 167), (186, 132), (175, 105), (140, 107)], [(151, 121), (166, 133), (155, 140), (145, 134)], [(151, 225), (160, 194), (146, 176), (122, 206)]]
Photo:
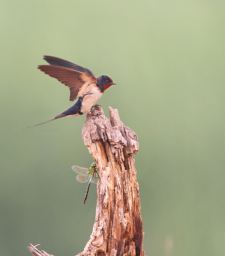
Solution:
[(89, 74), (89, 75), (92, 75), (95, 77), (95, 75), (89, 69), (83, 68), (77, 64), (70, 62), (70, 61), (52, 57), (52, 56), (44, 56), (44, 60), (46, 60), (52, 66), (73, 69), (73, 70), (76, 70), (76, 71), (79, 71), (82, 73), (86, 73), (86, 74)]

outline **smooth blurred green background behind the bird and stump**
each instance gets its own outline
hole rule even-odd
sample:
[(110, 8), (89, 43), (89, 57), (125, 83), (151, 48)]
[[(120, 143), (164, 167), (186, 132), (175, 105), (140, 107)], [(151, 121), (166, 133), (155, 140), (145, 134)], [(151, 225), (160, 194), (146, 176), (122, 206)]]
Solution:
[[(98, 101), (137, 133), (146, 255), (225, 252), (224, 1), (6, 1), (0, 10), (0, 255), (83, 251), (96, 186), (86, 116), (45, 122), (74, 104), (37, 65), (43, 55), (107, 74)], [(172, 252), (169, 252), (172, 248)], [(169, 251), (168, 251), (169, 250)], [(16, 252), (18, 251), (18, 252)], [(16, 252), (16, 253), (15, 253)]]

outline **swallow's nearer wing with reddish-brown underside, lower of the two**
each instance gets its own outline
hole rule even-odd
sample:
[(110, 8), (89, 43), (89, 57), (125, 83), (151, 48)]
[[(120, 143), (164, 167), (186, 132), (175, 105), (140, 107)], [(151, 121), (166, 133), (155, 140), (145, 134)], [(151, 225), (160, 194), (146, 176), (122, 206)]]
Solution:
[(82, 86), (87, 87), (89, 84), (97, 84), (96, 77), (74, 69), (49, 65), (38, 66), (38, 69), (68, 86), (70, 89), (70, 101), (77, 98), (77, 94)]

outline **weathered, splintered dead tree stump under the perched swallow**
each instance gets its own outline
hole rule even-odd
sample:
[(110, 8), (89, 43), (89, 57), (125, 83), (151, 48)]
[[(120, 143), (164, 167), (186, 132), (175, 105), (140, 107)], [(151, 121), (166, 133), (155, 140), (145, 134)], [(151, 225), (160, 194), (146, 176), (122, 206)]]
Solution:
[[(110, 119), (99, 105), (92, 113), (99, 116), (87, 114), (82, 137), (99, 170), (98, 200), (90, 240), (77, 256), (144, 256), (133, 155), (139, 149), (136, 133), (120, 121), (117, 109), (109, 107)], [(35, 256), (45, 255), (28, 248)]]

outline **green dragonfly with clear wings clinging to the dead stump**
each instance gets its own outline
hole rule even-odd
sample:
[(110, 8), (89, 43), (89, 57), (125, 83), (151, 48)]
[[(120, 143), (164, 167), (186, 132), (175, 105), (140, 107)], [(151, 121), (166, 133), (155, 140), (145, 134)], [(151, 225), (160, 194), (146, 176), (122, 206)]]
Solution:
[(78, 165), (73, 165), (72, 170), (78, 173), (78, 175), (76, 176), (77, 181), (81, 183), (88, 182), (87, 191), (84, 198), (84, 204), (85, 204), (91, 182), (98, 183), (99, 181), (98, 168), (96, 166), (96, 163), (92, 163), (89, 169), (85, 167), (80, 167)]

